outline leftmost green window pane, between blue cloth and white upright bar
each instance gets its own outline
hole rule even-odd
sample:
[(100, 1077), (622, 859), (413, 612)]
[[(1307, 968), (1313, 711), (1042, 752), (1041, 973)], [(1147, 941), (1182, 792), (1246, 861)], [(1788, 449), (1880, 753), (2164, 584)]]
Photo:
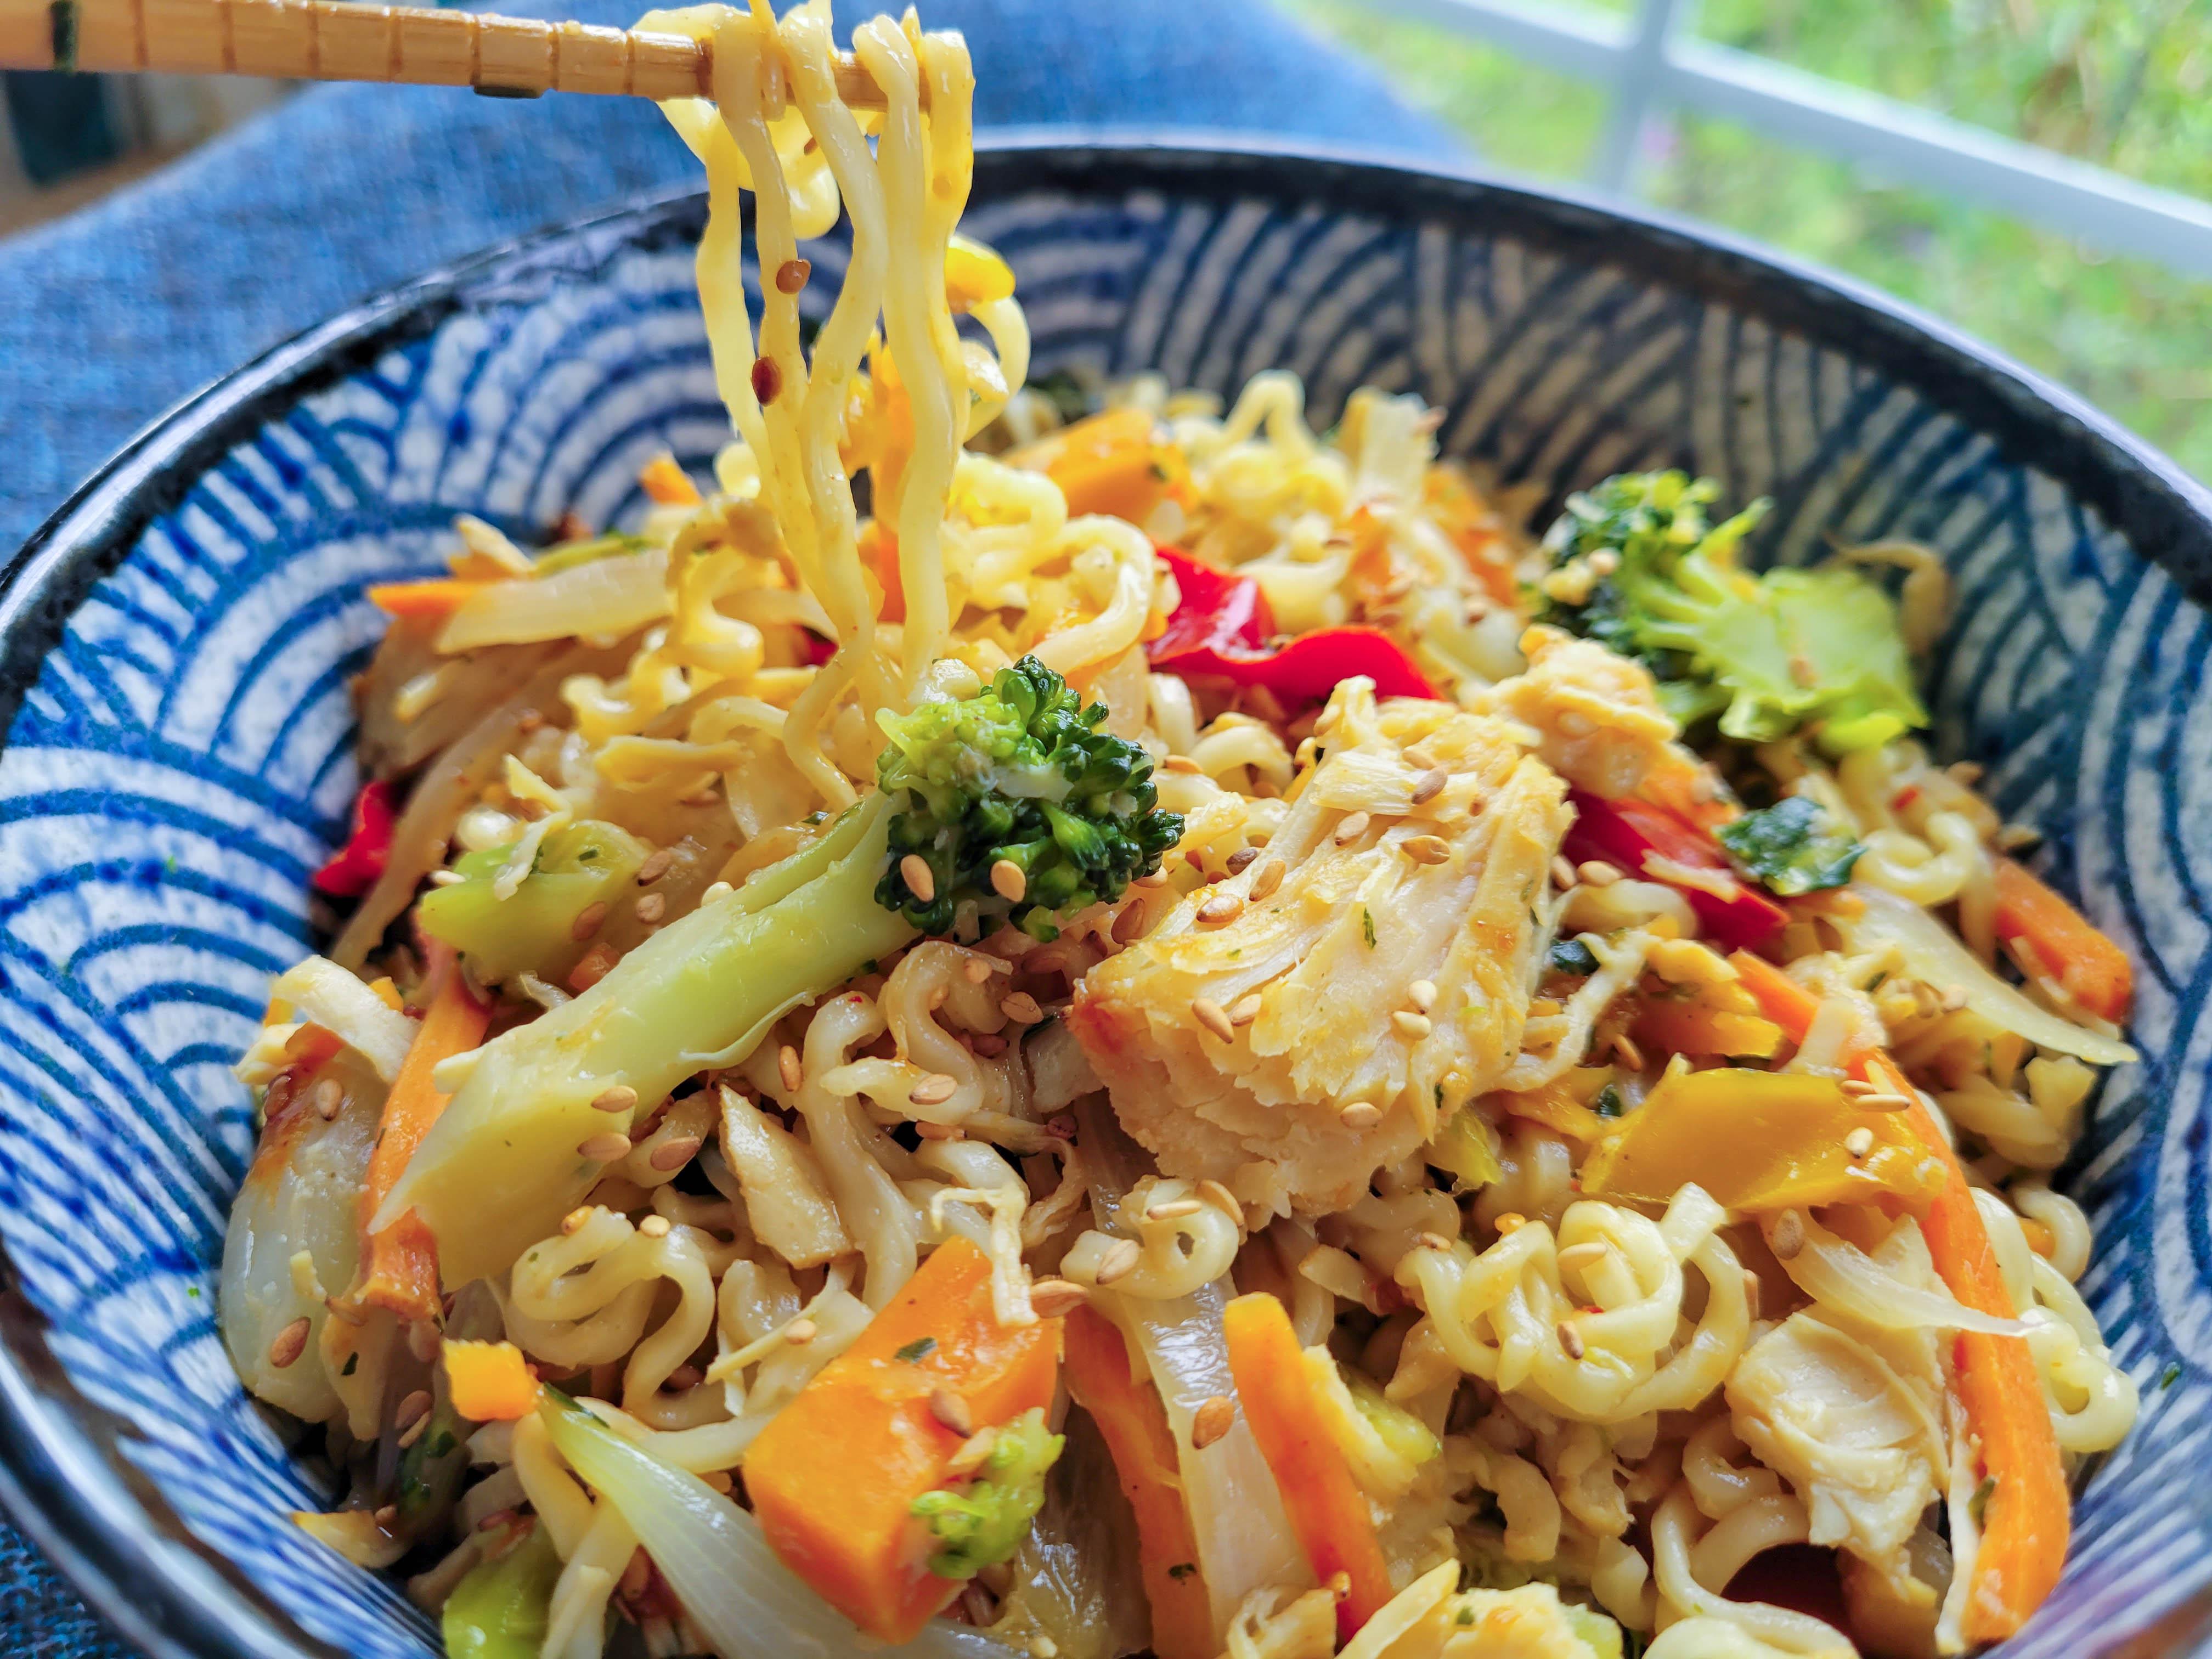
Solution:
[(1285, 0), (1285, 9), (1374, 62), (1409, 104), (1467, 133), (1484, 161), (1540, 179), (1573, 179), (1588, 166), (1606, 119), (1593, 86), (1469, 35), (1380, 15), (1371, 0)]

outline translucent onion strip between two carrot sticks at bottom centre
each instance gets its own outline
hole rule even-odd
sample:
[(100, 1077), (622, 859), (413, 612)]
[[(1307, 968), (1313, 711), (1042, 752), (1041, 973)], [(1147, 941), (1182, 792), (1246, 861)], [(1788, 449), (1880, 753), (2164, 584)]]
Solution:
[[(1084, 1166), (1091, 1172), (1091, 1208), (1099, 1225), (1110, 1228), (1121, 1197), (1141, 1177), (1152, 1175), (1150, 1159), (1121, 1133), (1121, 1124), (1099, 1095), (1082, 1102), (1075, 1113)], [(1197, 1409), (1214, 1396), (1237, 1398), (1230, 1347), (1221, 1334), (1221, 1310), (1234, 1294), (1237, 1287), (1223, 1274), (1190, 1296), (1170, 1301), (1102, 1296), (1097, 1303), (1137, 1343), (1168, 1409), (1168, 1429), (1175, 1433), (1183, 1475), (1183, 1506), (1190, 1511), (1217, 1632), (1228, 1630), (1237, 1608), (1254, 1590), (1274, 1584), (1303, 1588), (1314, 1582), (1314, 1571), (1283, 1515), (1274, 1473), (1243, 1416), (1203, 1455), (1190, 1447), (1190, 1420)]]

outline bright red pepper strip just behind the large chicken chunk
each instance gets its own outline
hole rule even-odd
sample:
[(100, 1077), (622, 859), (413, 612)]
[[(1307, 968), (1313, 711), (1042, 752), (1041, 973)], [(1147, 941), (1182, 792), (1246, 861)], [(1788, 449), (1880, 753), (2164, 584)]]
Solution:
[(1316, 628), (1270, 650), (1265, 641), (1274, 637), (1274, 615), (1259, 582), (1217, 571), (1172, 546), (1159, 549), (1159, 557), (1175, 571), (1181, 599), (1159, 639), (1146, 646), (1152, 668), (1259, 686), (1285, 708), (1316, 703), (1354, 675), (1367, 675), (1376, 697), (1440, 697), (1380, 628)]

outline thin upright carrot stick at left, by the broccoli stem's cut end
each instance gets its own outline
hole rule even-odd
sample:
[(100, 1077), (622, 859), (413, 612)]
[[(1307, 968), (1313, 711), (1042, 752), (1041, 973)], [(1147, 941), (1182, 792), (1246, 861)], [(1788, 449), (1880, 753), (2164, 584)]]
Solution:
[(392, 1079), (392, 1093), (385, 1095), (376, 1150), (369, 1152), (369, 1172), (361, 1186), (363, 1256), (356, 1303), (389, 1307), (400, 1318), (438, 1321), (438, 1241), (429, 1228), (414, 1210), (380, 1232), (367, 1232), (367, 1225), (445, 1110), (447, 1095), (438, 1093), (431, 1071), (447, 1055), (480, 1044), (489, 1022), (491, 1009), (476, 1000), (460, 975), (460, 962), (445, 953), (431, 969), (431, 998), (422, 1026), (407, 1048), (407, 1060), (400, 1062), (400, 1075)]

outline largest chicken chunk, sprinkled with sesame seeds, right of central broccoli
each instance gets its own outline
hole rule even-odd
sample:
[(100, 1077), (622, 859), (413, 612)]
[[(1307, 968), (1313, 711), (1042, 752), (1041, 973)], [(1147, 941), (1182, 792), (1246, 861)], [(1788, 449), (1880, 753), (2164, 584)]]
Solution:
[(1265, 852), (1093, 969), (1068, 1015), (1168, 1175), (1303, 1214), (1498, 1086), (1571, 816), (1513, 721), (1378, 708), (1352, 679), (1314, 743)]

